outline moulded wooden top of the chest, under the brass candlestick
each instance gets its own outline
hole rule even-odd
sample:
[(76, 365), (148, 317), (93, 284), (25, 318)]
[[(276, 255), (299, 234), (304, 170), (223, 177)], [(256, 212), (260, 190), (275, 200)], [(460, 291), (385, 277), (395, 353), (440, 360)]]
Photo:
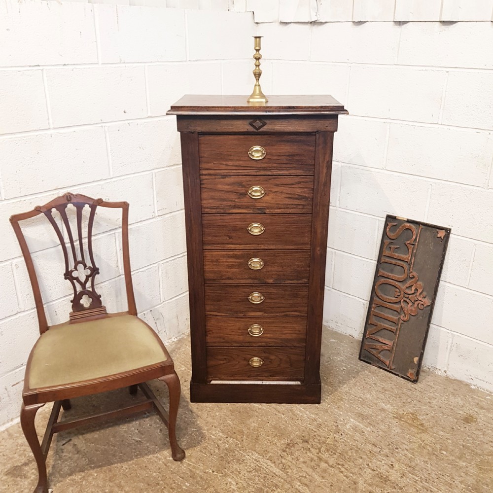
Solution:
[(246, 96), (186, 95), (166, 113), (168, 115), (228, 114), (348, 114), (344, 105), (329, 95), (269, 96), (268, 103), (246, 102)]

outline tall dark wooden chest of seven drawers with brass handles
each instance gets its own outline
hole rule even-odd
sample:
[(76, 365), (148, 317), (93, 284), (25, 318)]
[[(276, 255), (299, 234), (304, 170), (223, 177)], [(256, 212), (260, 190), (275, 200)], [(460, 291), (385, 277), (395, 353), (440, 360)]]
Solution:
[(330, 96), (184, 96), (193, 402), (320, 402)]

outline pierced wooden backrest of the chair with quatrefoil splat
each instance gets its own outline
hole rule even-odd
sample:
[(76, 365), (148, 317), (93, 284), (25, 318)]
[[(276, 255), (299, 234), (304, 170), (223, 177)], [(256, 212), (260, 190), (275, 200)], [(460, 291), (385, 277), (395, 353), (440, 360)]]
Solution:
[[(75, 208), (75, 218), (72, 217), (72, 220), (70, 220), (71, 216), (67, 214), (67, 208), (70, 205)], [(70, 321), (76, 321), (86, 317), (104, 317), (106, 315), (106, 307), (103, 306), (101, 295), (96, 291), (95, 278), (99, 274), (99, 268), (94, 261), (92, 247), (94, 217), (98, 207), (122, 210), (122, 250), (128, 313), (137, 315), (132, 285), (132, 274), (130, 270), (128, 202), (105, 202), (103, 199), (92, 199), (91, 197), (81, 194), (66, 193), (51, 202), (48, 202), (44, 206), (35, 207), (33, 211), (14, 214), (10, 217), (10, 223), (14, 228), (28, 269), (29, 279), (35, 298), (39, 332), (41, 334), (48, 329), (48, 323), (44, 311), (41, 291), (39, 289), (39, 282), (33, 264), (33, 258), (19, 222), (35, 217), (38, 214), (44, 214), (53, 226), (65, 259), (64, 279), (70, 282), (73, 289)], [(83, 222), (85, 222), (83, 221), (84, 208), (89, 208), (87, 228), (83, 228)], [(63, 229), (67, 235), (68, 241), (65, 240), (59, 223), (53, 215), (56, 211), (60, 214)], [(72, 231), (72, 227), (70, 226), (71, 222), (75, 222), (74, 229), (76, 229), (76, 232)], [(74, 240), (75, 234), (76, 240)]]

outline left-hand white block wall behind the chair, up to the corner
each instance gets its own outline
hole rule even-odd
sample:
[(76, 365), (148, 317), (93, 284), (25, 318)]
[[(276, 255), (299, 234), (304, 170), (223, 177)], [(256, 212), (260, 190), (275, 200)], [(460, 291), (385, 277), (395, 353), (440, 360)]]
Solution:
[[(128, 201), (140, 315), (163, 340), (189, 330), (179, 135), (165, 113), (185, 93), (246, 94), (255, 25), (251, 13), (3, 0), (0, 26), (1, 426), (18, 416), (38, 336), (11, 214), (65, 191)], [(121, 223), (101, 214), (100, 292), (108, 311), (125, 310)], [(59, 323), (71, 298), (60, 247), (44, 216), (26, 235)]]

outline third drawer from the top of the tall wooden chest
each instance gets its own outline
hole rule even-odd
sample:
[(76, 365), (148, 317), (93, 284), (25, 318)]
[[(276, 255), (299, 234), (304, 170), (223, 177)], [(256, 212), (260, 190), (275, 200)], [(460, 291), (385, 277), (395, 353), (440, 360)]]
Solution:
[[(264, 232), (252, 235), (247, 228), (260, 223)], [(310, 248), (311, 214), (202, 214), (204, 248)]]

